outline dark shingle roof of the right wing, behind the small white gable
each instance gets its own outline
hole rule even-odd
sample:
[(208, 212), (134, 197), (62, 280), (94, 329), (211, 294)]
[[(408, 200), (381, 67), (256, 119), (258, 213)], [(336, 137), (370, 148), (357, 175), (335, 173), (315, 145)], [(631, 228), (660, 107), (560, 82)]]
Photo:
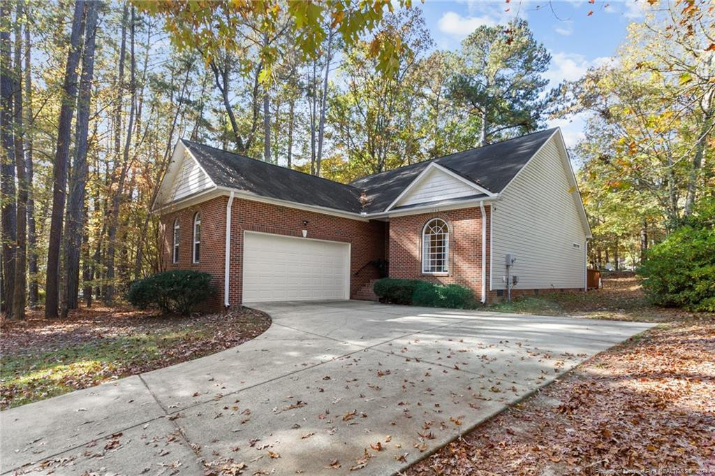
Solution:
[(499, 193), (554, 131), (556, 129), (533, 132), (484, 147), (368, 175), (352, 181), (350, 185), (365, 190), (370, 200), (366, 207), (368, 213), (382, 211), (393, 203), (430, 162), (437, 162), (490, 192)]

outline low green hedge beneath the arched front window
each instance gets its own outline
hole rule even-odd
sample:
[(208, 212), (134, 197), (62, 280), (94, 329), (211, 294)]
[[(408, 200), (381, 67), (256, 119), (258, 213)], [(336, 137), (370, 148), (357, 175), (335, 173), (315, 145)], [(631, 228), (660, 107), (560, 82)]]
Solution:
[(475, 306), (472, 291), (460, 284), (435, 284), (418, 279), (383, 278), (373, 291), (380, 301), (412, 306), (470, 309)]

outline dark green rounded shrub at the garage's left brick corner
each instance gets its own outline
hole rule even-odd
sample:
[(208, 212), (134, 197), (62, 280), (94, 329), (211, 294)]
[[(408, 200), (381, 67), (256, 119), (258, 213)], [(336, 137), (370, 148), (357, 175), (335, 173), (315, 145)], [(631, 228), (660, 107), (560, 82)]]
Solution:
[(192, 270), (164, 271), (134, 281), (127, 298), (133, 306), (157, 306), (166, 312), (187, 315), (211, 296), (211, 275)]

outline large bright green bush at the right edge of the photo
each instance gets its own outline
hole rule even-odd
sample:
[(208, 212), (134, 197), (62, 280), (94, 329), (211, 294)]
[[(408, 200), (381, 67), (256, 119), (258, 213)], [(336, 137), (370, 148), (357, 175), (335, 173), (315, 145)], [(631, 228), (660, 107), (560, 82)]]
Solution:
[(715, 311), (715, 198), (653, 246), (638, 275), (651, 302), (689, 311)]

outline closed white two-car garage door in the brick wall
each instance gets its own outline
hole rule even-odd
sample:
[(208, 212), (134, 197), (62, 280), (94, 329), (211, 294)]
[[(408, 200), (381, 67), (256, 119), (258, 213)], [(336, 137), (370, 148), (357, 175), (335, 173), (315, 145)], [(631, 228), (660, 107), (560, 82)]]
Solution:
[(349, 283), (349, 243), (245, 232), (245, 302), (348, 299)]

